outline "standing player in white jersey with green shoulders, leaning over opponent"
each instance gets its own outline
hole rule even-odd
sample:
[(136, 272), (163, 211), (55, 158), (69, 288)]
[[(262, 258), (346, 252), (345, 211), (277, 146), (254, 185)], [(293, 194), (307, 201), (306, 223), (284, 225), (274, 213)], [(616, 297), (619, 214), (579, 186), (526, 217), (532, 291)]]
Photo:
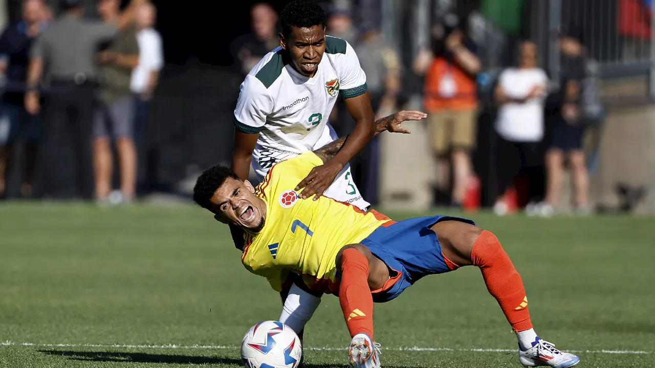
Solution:
[(280, 160), (337, 139), (328, 118), (341, 92), (355, 128), (339, 154), (312, 170), (296, 190), (303, 188), (301, 198), (325, 194), (365, 211), (369, 204), (348, 165), (375, 132), (357, 55), (343, 39), (326, 36), (325, 12), (313, 1), (292, 1), (280, 22), (280, 46), (264, 56), (241, 84), (231, 169), (245, 180), (252, 164), (261, 181)]

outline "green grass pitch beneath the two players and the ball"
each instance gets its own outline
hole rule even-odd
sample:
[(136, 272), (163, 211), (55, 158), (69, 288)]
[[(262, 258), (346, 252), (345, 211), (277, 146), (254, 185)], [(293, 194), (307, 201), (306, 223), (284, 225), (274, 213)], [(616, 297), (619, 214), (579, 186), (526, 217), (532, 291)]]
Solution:
[[(655, 366), (655, 218), (470, 217), (521, 272), (542, 338), (580, 367)], [(0, 367), (240, 367), (244, 333), (280, 307), (199, 208), (0, 204)], [(375, 331), (383, 367), (521, 367), (477, 268), (376, 304)], [(346, 367), (348, 342), (326, 295), (307, 365)]]

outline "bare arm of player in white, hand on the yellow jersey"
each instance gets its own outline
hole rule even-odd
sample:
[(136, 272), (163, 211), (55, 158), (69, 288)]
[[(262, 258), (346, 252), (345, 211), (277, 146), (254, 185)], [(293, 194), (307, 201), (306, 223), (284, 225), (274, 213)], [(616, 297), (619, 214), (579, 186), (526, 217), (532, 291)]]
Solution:
[(364, 149), (366, 143), (375, 134), (375, 123), (373, 123), (375, 115), (368, 92), (353, 98), (346, 98), (344, 101), (348, 113), (355, 120), (355, 128), (352, 130), (348, 141), (344, 143), (343, 149), (337, 155), (322, 166), (314, 168), (301, 181), (301, 183), (305, 183), (305, 185), (298, 185), (299, 188), (304, 187), (300, 193), (301, 198), (307, 199), (315, 194), (314, 200), (317, 200), (318, 197), (322, 196), (327, 187), (332, 184), (339, 172), (341, 172), (341, 169)]

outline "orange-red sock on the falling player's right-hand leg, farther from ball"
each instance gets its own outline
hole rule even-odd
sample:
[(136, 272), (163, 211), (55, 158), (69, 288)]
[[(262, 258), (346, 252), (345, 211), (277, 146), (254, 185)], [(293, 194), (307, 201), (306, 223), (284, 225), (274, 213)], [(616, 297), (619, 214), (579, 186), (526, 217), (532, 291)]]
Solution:
[(482, 271), (489, 293), (500, 304), (514, 331), (533, 328), (521, 275), (493, 233), (485, 230), (478, 236), (471, 251), (471, 261)]

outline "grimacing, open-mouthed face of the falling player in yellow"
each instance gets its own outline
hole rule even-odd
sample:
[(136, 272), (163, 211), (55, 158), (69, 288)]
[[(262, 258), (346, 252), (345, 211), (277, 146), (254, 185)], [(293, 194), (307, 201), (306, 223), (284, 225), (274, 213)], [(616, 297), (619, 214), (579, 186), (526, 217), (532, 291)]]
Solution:
[(214, 218), (221, 223), (259, 232), (264, 227), (266, 205), (255, 196), (255, 188), (250, 181), (240, 181), (228, 177), (216, 189), (210, 200), (214, 205)]

